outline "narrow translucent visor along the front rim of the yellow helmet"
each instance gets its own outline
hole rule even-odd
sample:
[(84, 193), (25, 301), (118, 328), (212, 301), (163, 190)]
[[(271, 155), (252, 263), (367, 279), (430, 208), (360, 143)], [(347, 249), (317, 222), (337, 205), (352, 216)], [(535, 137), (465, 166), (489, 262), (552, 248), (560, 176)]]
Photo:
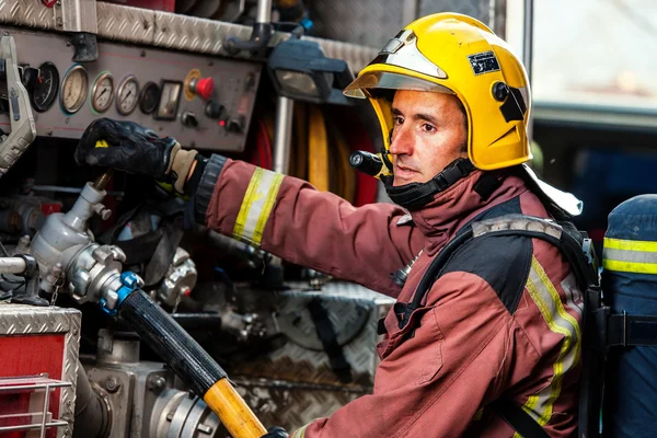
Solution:
[(372, 71), (359, 76), (344, 89), (343, 94), (347, 97), (372, 97), (370, 90), (410, 90), (456, 94), (447, 87), (435, 82), (387, 71)]

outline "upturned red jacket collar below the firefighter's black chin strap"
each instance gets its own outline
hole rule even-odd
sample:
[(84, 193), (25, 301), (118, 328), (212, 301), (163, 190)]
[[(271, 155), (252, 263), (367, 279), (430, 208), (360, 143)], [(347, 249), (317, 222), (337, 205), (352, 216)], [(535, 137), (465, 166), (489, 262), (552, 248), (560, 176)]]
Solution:
[(474, 186), (482, 177), (474, 171), (447, 191), (438, 193), (434, 200), (420, 209), (411, 211), (415, 226), (425, 234), (425, 252), (431, 256), (440, 250), (465, 223), (482, 211), (505, 203), (527, 192), (517, 176), (499, 175), (502, 185), (486, 199), (482, 199)]

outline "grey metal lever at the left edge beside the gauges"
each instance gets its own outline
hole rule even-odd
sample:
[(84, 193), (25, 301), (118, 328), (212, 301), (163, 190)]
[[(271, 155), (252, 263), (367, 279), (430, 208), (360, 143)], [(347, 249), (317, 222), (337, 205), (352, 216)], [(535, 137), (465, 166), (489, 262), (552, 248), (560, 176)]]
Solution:
[(0, 135), (0, 177), (21, 158), (36, 138), (36, 125), (27, 90), (21, 81), (16, 45), (12, 36), (0, 38), (0, 74), (7, 79), (11, 131)]

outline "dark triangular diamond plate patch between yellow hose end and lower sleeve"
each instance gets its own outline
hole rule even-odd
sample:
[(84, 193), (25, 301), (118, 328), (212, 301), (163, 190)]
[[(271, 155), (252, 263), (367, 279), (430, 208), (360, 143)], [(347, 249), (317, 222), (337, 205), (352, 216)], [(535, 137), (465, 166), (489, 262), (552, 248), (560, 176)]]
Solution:
[(231, 379), (246, 404), (264, 425), (292, 431), (311, 420), (327, 417), (369, 392), (310, 387), (279, 380)]

